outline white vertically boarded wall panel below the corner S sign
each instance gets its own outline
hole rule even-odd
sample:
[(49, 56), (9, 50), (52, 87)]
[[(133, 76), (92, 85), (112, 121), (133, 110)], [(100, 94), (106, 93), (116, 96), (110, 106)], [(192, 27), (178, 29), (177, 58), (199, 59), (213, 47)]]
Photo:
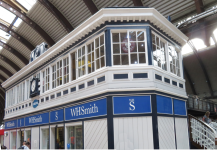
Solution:
[(153, 149), (152, 117), (114, 118), (114, 148)]

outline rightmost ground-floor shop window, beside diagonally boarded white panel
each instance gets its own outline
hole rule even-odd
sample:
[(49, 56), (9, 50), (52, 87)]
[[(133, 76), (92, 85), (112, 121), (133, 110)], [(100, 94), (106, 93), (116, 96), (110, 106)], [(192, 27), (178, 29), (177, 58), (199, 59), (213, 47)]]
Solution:
[(82, 126), (67, 127), (67, 149), (83, 149)]

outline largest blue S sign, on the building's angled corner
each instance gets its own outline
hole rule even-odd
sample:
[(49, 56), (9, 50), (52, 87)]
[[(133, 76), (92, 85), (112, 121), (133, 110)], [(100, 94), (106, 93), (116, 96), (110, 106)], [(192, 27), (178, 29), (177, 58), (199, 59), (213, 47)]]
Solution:
[(150, 96), (113, 97), (114, 114), (151, 113)]

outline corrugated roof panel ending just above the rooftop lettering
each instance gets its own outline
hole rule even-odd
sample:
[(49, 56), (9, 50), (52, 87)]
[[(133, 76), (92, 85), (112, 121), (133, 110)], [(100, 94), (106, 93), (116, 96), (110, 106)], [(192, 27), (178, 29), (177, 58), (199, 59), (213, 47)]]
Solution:
[(45, 42), (45, 40), (25, 22), (20, 24), (20, 26), (16, 29), (16, 32), (32, 43), (33, 46), (37, 46), (42, 42)]

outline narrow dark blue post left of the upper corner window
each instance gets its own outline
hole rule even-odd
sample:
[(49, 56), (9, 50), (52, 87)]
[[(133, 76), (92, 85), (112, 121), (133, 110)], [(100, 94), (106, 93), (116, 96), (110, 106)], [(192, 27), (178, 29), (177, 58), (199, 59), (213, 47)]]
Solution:
[(111, 58), (111, 31), (110, 29), (105, 30), (105, 55), (106, 55), (106, 66), (112, 66)]

